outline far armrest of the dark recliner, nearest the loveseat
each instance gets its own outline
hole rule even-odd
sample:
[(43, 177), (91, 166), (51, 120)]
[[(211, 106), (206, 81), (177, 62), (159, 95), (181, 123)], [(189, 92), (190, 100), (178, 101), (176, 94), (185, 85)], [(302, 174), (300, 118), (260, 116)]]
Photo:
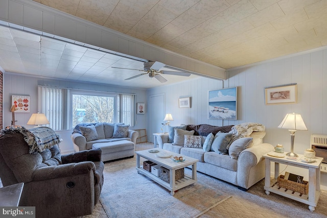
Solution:
[(61, 161), (65, 163), (79, 163), (82, 161), (101, 161), (101, 149), (90, 149), (80, 152), (75, 152), (73, 154), (66, 154), (61, 156)]

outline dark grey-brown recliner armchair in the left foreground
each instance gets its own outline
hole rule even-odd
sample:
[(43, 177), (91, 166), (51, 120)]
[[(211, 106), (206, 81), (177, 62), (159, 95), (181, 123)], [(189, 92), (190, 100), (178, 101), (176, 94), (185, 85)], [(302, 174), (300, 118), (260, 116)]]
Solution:
[(30, 147), (18, 132), (0, 137), (3, 185), (24, 182), (19, 206), (35, 206), (36, 217), (91, 214), (104, 181), (101, 150), (61, 155), (58, 144), (33, 153)]

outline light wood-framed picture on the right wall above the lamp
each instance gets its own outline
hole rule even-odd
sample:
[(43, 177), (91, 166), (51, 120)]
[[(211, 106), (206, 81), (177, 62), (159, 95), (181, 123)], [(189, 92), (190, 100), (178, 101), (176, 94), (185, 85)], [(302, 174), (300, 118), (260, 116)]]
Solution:
[(297, 102), (297, 84), (265, 88), (266, 105), (292, 104)]

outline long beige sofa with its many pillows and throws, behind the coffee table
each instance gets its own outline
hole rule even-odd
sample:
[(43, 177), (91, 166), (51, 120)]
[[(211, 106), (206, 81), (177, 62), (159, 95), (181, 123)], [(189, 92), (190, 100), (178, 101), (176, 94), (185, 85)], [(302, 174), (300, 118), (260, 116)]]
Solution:
[(262, 155), (274, 150), (271, 144), (263, 143), (265, 135), (265, 126), (256, 123), (224, 127), (202, 124), (169, 127), (169, 133), (157, 140), (161, 149), (199, 159), (198, 172), (247, 190), (265, 177)]

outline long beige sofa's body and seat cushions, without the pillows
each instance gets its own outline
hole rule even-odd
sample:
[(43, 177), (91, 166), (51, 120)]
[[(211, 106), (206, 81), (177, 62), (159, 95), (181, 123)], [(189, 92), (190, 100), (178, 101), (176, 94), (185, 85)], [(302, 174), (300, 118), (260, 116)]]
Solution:
[[(197, 125), (195, 134), (199, 134), (197, 129), (200, 130), (201, 125)], [(228, 129), (225, 132), (228, 132)], [(207, 135), (208, 132), (200, 132), (200, 134)], [(253, 146), (243, 150), (237, 159), (232, 159), (228, 154), (218, 154), (215, 151), (206, 152), (202, 148), (185, 148), (173, 145), (173, 143), (168, 142), (168, 133), (159, 135), (157, 140), (159, 148), (199, 159), (197, 163), (198, 172), (234, 184), (242, 190), (247, 190), (265, 177), (265, 162), (262, 155), (274, 150), (271, 144), (263, 143), (265, 135), (265, 131), (253, 131), (249, 134), (247, 137), (253, 138)], [(202, 138), (203, 143), (206, 136), (202, 136)]]

